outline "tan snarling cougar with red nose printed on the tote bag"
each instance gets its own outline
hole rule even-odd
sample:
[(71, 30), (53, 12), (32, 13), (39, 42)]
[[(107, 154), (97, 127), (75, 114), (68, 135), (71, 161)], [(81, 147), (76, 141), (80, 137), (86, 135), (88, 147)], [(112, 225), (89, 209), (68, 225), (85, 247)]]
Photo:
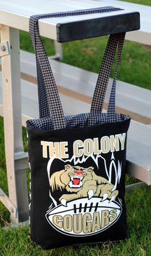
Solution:
[(50, 180), (52, 192), (58, 189), (61, 191), (66, 189), (69, 192), (60, 197), (62, 205), (67, 206), (68, 201), (84, 197), (90, 199), (93, 196), (100, 197), (100, 201), (115, 200), (118, 191), (113, 191), (114, 185), (106, 178), (97, 176), (93, 169), (94, 167), (91, 166), (83, 168), (67, 164), (65, 169), (53, 173)]

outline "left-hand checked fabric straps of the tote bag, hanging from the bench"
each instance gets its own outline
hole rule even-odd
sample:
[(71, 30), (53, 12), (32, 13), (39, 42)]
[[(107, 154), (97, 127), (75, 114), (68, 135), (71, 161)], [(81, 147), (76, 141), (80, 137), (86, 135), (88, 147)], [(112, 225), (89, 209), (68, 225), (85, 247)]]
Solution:
[[(38, 16), (38, 17), (37, 17)], [(42, 15), (42, 18), (45, 16)], [(38, 29), (38, 19), (41, 15), (29, 19), (29, 33), (36, 53), (36, 73), (38, 81), (38, 103), (40, 118), (51, 115), (54, 129), (65, 128), (65, 117), (61, 106), (60, 96), (52, 74), (51, 65), (47, 58)]]

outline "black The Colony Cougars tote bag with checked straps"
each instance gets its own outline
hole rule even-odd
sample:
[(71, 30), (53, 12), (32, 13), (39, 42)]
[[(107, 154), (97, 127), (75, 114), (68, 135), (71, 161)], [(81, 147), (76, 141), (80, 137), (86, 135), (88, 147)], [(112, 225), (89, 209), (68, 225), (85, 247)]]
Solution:
[[(38, 19), (104, 10), (109, 9), (35, 15), (29, 20), (40, 110), (40, 119), (27, 121), (30, 234), (45, 249), (117, 241), (127, 235), (125, 154), (130, 117), (115, 112), (116, 75), (125, 33), (109, 37), (90, 113), (65, 116), (38, 31)], [(109, 104), (102, 113), (116, 49)]]

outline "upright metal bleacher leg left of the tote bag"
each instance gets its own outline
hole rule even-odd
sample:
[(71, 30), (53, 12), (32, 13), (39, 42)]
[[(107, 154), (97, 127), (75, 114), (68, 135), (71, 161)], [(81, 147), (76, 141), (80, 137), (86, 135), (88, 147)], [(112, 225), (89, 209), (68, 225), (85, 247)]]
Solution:
[(10, 55), (1, 58), (4, 143), (9, 198), (18, 209), (18, 214), (11, 212), (10, 219), (12, 223), (18, 223), (28, 219), (27, 154), (22, 143), (19, 30), (1, 25), (1, 42), (6, 41), (10, 45)]

